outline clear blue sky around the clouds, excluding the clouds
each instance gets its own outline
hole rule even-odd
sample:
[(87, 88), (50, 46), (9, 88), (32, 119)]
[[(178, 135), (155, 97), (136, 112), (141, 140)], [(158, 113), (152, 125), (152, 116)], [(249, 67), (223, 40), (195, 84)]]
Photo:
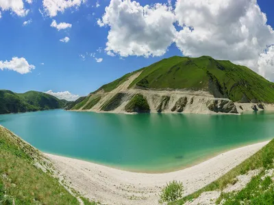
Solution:
[[(138, 2), (140, 6), (147, 5), (147, 1), (144, 0)], [(167, 5), (167, 1), (153, 0), (149, 2), (151, 5), (153, 3), (166, 3)], [(100, 27), (97, 24), (98, 18), (101, 18), (105, 13), (105, 7), (110, 6), (110, 1), (99, 0), (100, 6), (96, 7), (96, 1), (87, 0), (79, 8), (66, 8), (64, 12), (58, 12), (56, 16), (47, 15), (42, 1), (34, 0), (29, 4), (23, 0), (23, 3), (24, 9), (29, 10), (29, 12), (24, 16), (18, 16), (12, 9), (3, 10), (2, 6), (1, 10), (0, 1), (0, 61), (10, 61), (12, 57), (23, 57), (28, 64), (34, 65), (35, 69), (26, 74), (0, 69), (1, 89), (14, 92), (26, 92), (28, 90), (69, 91), (72, 94), (84, 96), (127, 72), (148, 66), (165, 57), (182, 55), (185, 51), (184, 46), (186, 48), (189, 46), (185, 43), (171, 42), (166, 48), (168, 51), (158, 57), (129, 54), (127, 57), (124, 55), (122, 59), (118, 54), (119, 51), (121, 52), (120, 49), (116, 53), (113, 51), (116, 55), (113, 57), (108, 55), (104, 49), (108, 42), (108, 32), (114, 25), (113, 23), (109, 23), (109, 25), (105, 23), (104, 27)], [(171, 1), (171, 5), (175, 10), (175, 0)], [(266, 13), (267, 25), (274, 27), (274, 1), (258, 0), (258, 5), (262, 12)], [(39, 10), (44, 14), (40, 14)], [(23, 23), (27, 20), (32, 21), (24, 26)], [(70, 23), (72, 27), (58, 31), (58, 29), (50, 26), (53, 20), (56, 20), (57, 23)], [(178, 23), (173, 23), (173, 25), (177, 30), (182, 28), (179, 27)], [(250, 31), (251, 29), (249, 29)], [(64, 37), (69, 37), (69, 42), (61, 42), (60, 39)], [(268, 44), (271, 42), (269, 41)], [(180, 49), (177, 48), (178, 45), (181, 45), (179, 46)], [(99, 52), (99, 48), (101, 48), (101, 52)], [(227, 49), (229, 48), (227, 47)], [(154, 51), (151, 50), (150, 52)], [(90, 53), (93, 53), (93, 56), (90, 56)], [(208, 54), (211, 53), (205, 50), (204, 55)], [(85, 59), (80, 55), (85, 55)], [(196, 53), (191, 53), (191, 55), (194, 56)], [(212, 55), (214, 57), (214, 53)], [(102, 58), (102, 61), (97, 62), (95, 58)], [(226, 56), (221, 56), (221, 58), (226, 58)], [(227, 59), (229, 58), (230, 56), (227, 55)], [(232, 60), (237, 61), (237, 59)], [(245, 59), (239, 59), (239, 61), (243, 60)]]

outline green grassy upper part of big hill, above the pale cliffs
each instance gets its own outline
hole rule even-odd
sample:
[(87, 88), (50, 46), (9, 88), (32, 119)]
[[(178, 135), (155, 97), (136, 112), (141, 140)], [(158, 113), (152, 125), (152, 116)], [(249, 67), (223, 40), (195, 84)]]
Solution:
[[(216, 98), (229, 98), (234, 102), (274, 102), (274, 83), (230, 61), (208, 56), (174, 56), (140, 70), (142, 73), (129, 88), (205, 90)], [(110, 92), (136, 72), (125, 74), (99, 90)]]

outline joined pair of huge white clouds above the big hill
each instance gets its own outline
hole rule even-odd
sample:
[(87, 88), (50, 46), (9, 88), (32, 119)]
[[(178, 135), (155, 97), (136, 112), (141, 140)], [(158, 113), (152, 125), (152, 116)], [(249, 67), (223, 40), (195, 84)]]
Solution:
[(262, 64), (273, 52), (270, 48), (264, 53), (274, 44), (274, 31), (266, 22), (256, 0), (177, 0), (175, 5), (168, 1), (145, 6), (111, 0), (97, 20), (100, 27), (110, 27), (108, 55), (160, 56), (175, 42), (184, 55), (229, 59), (259, 73), (259, 57)]

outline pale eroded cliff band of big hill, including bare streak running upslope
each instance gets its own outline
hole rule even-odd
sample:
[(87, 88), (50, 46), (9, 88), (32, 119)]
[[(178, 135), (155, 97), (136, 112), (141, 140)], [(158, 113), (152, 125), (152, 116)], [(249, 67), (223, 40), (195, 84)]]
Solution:
[[(81, 104), (76, 105), (75, 110), (111, 113), (204, 114), (237, 114), (249, 109), (256, 110), (253, 105), (237, 105), (228, 98), (215, 98), (213, 94), (202, 90), (142, 90), (139, 87), (128, 89), (129, 84), (139, 75), (140, 72), (133, 74), (111, 92), (99, 90), (90, 94), (80, 102)], [(257, 107), (262, 109), (263, 105)]]

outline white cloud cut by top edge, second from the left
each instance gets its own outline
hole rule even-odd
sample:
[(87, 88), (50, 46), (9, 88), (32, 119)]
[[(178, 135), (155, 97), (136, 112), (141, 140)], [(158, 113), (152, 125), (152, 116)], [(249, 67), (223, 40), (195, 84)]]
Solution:
[(47, 16), (57, 16), (58, 12), (64, 12), (67, 8), (79, 8), (86, 0), (43, 0), (42, 4)]

